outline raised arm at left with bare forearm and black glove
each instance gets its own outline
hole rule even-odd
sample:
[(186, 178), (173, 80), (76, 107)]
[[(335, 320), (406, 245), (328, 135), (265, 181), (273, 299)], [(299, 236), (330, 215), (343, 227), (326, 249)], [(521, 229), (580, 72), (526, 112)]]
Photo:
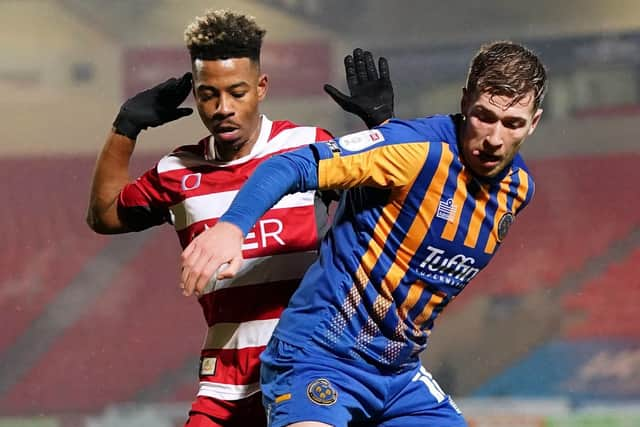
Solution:
[[(191, 108), (178, 108), (190, 90), (191, 73), (186, 73), (180, 79), (172, 78), (140, 92), (122, 105), (93, 174), (87, 209), (87, 224), (93, 231), (125, 233), (157, 223), (157, 220), (141, 219), (139, 215), (135, 221), (125, 218), (118, 211), (118, 197), (131, 181), (129, 161), (138, 134), (147, 127), (160, 126), (191, 114)], [(148, 225), (145, 226), (145, 222)]]

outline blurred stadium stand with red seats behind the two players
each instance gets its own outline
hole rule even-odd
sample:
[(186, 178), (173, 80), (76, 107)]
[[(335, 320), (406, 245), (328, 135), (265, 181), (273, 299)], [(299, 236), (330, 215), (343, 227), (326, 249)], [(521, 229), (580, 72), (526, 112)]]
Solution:
[[(322, 91), (354, 47), (389, 59), (403, 118), (456, 112), (484, 42), (540, 54), (536, 196), (424, 362), (474, 427), (640, 426), (640, 2), (1, 0), (0, 427), (183, 425), (205, 322), (175, 234), (84, 217), (120, 104), (188, 71), (184, 28), (223, 7), (267, 29), (262, 111), (336, 135), (362, 129)], [(144, 132), (132, 173), (205, 135)]]

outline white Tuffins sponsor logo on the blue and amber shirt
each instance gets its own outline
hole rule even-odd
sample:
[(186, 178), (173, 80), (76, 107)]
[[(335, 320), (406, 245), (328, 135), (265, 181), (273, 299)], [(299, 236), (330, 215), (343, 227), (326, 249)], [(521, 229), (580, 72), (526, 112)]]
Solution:
[(420, 273), (438, 282), (464, 288), (480, 272), (479, 268), (472, 267), (476, 263), (473, 257), (457, 254), (447, 258), (443, 256), (444, 250), (433, 246), (427, 246), (427, 251), (429, 254), (419, 266)]

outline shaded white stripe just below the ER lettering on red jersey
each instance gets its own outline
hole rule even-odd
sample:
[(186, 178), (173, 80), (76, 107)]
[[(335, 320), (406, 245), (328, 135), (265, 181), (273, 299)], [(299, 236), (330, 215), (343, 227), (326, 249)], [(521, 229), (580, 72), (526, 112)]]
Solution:
[(212, 278), (203, 294), (231, 287), (300, 279), (317, 257), (316, 251), (308, 251), (244, 259), (234, 277), (224, 280)]

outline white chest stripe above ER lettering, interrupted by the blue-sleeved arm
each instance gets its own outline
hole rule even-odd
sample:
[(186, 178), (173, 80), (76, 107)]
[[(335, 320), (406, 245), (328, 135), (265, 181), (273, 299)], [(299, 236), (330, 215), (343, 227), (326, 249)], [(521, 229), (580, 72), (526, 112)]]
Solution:
[[(229, 209), (238, 190), (193, 196), (171, 206), (176, 231), (183, 230), (196, 222), (220, 218)], [(288, 209), (313, 205), (314, 192), (295, 193), (284, 196), (270, 209)]]

